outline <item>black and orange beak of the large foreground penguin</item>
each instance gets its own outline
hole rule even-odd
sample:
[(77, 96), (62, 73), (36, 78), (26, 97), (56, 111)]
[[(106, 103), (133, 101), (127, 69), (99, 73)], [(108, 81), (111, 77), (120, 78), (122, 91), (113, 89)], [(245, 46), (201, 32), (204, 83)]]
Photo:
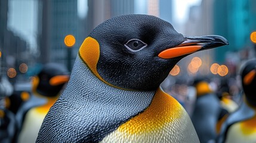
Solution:
[(184, 36), (186, 41), (182, 42), (180, 45), (165, 49), (158, 54), (158, 57), (169, 59), (180, 57), (182, 55), (192, 54), (197, 51), (202, 51), (205, 49), (216, 48), (218, 46), (229, 45), (227, 39), (218, 35), (208, 35), (208, 36), (198, 36), (190, 37)]

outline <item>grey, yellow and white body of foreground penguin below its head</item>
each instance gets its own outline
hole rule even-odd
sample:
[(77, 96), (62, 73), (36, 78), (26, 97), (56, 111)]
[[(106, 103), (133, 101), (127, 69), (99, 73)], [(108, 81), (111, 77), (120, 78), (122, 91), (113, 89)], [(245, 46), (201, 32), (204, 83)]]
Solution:
[[(169, 126), (163, 125), (165, 122), (166, 123), (169, 122), (169, 125), (174, 124), (172, 128), (174, 127), (177, 128), (177, 132), (175, 133), (180, 133), (180, 132), (184, 133), (186, 132), (185, 130), (187, 129), (191, 131), (195, 131), (195, 129), (193, 129), (193, 126), (190, 122), (189, 117), (187, 116), (186, 112), (184, 112), (183, 107), (181, 107), (181, 105), (178, 104), (177, 101), (173, 100), (172, 97), (166, 97), (166, 94), (164, 94), (161, 91), (161, 89), (158, 89), (158, 92), (156, 92), (156, 91), (126, 91), (123, 89), (113, 88), (112, 86), (106, 85), (97, 77), (95, 77), (94, 74), (92, 74), (86, 66), (81, 66), (84, 63), (79, 58), (76, 59), (76, 63), (77, 64), (75, 64), (75, 66), (73, 67), (74, 74), (72, 75), (78, 75), (79, 72), (85, 71), (86, 74), (84, 74), (84, 78), (88, 78), (88, 79), (81, 80), (81, 79), (75, 79), (75, 78), (78, 78), (77, 76), (70, 77), (70, 80), (76, 81), (72, 83), (73, 86), (79, 87), (80, 85), (83, 85), (83, 88), (80, 90), (73, 90), (73, 94), (79, 95), (79, 96), (71, 97), (71, 98), (66, 98), (65, 96), (60, 97), (59, 100), (61, 102), (57, 102), (53, 107), (57, 111), (60, 111), (61, 109), (61, 112), (58, 113), (58, 118), (61, 119), (60, 122), (62, 122), (61, 124), (58, 125), (58, 129), (61, 129), (59, 130), (60, 134), (56, 134), (48, 130), (50, 129), (48, 128), (49, 126), (43, 126), (42, 129), (44, 130), (45, 128), (45, 133), (44, 133), (44, 136), (41, 136), (40, 138), (41, 141), (50, 141), (50, 142), (59, 142), (59, 141), (60, 142), (62, 141), (63, 142), (66, 142), (66, 141), (68, 142), (80, 142), (80, 141), (81, 142), (82, 141), (100, 142), (101, 140), (103, 142), (104, 141), (110, 141), (110, 142), (122, 141), (122, 140), (125, 141), (126, 140), (125, 137), (128, 137), (128, 138), (131, 137), (129, 135), (126, 135), (129, 133), (135, 136), (134, 138), (130, 138), (130, 139), (134, 139), (134, 141), (144, 141), (144, 142), (156, 141), (156, 140), (152, 140), (150, 136), (158, 135), (156, 133), (161, 133), (162, 135), (165, 135), (166, 131), (169, 130), (169, 129), (166, 129)], [(88, 84), (88, 81), (90, 81), (90, 84)], [(67, 94), (66, 93), (67, 91), (72, 90), (72, 89), (69, 89), (69, 87), (70, 86), (67, 86), (66, 90), (63, 92), (63, 95)], [(95, 90), (88, 90), (88, 89), (95, 89)], [(86, 92), (84, 91), (84, 94), (80, 94), (81, 90), (85, 90)], [(104, 91), (107, 91), (107, 92), (104, 92)], [(158, 120), (157, 118), (154, 119), (155, 117), (153, 115), (156, 114), (154, 112), (149, 113), (149, 114), (152, 114), (151, 120), (149, 115), (143, 116), (144, 111), (147, 109), (149, 110), (150, 105), (154, 103), (153, 98), (156, 98), (155, 102), (159, 102), (159, 100), (161, 100), (161, 97), (155, 97), (154, 96), (155, 94), (161, 94), (161, 95), (164, 94), (164, 96), (162, 97), (162, 100), (165, 100), (166, 98), (167, 100), (165, 101), (166, 105), (171, 106), (169, 108), (173, 108), (175, 105), (175, 111), (178, 114), (178, 116), (176, 117), (177, 120), (170, 122), (169, 120), (165, 120), (165, 119), (162, 119), (163, 121)], [(94, 96), (91, 96), (91, 95), (94, 95)], [(73, 104), (71, 104), (72, 108), (70, 108), (69, 107), (70, 105), (67, 103), (72, 102), (73, 100), (76, 100), (76, 102), (73, 102)], [(66, 105), (66, 107), (62, 108), (62, 106), (60, 105), (64, 105), (64, 104)], [(168, 108), (161, 107), (161, 110), (166, 111), (166, 109)], [(168, 112), (171, 112), (171, 111), (173, 110), (169, 110)], [(54, 114), (51, 114), (51, 113), (49, 114), (51, 116), (54, 116)], [(146, 120), (146, 122), (143, 122), (144, 120), (136, 119), (135, 117), (138, 117), (138, 114), (145, 117), (143, 119)], [(67, 121), (67, 117), (69, 119), (68, 121)], [(46, 123), (50, 122), (50, 120), (48, 119), (51, 119), (51, 118), (45, 119), (44, 122)], [(139, 126), (137, 127), (135, 125), (130, 125), (130, 123), (127, 123), (128, 120), (130, 122), (132, 122), (132, 120), (135, 120), (135, 121), (138, 120), (137, 124), (143, 127), (138, 128)], [(180, 120), (180, 122), (183, 122), (183, 123), (178, 124), (177, 123), (178, 120)], [(150, 130), (150, 128), (152, 128), (151, 126), (155, 124), (157, 125), (158, 122), (159, 122), (159, 125), (155, 127), (156, 129)], [(124, 127), (119, 127), (120, 125), (123, 125)], [(162, 127), (165, 127), (165, 128), (162, 128)], [(160, 128), (158, 132), (155, 132), (155, 130), (157, 130), (158, 128)], [(140, 129), (144, 129), (144, 130), (140, 130)], [(71, 132), (72, 130), (77, 130), (77, 131)], [(68, 136), (67, 136), (67, 132), (68, 132)], [(171, 130), (169, 130), (169, 132), (171, 132)], [(174, 135), (177, 135), (175, 133), (173, 134), (173, 136), (171, 136), (172, 139), (175, 139)], [(190, 133), (190, 132), (187, 132), (187, 133)], [(195, 132), (192, 132), (187, 136), (184, 135), (184, 138), (181, 139), (181, 141), (189, 141), (190, 139), (197, 141), (196, 140), (197, 138), (195, 138), (196, 134), (193, 134), (193, 133)], [(115, 135), (118, 135), (118, 136), (115, 136)], [(147, 138), (144, 138), (145, 136)], [(161, 139), (161, 138), (158, 138), (158, 139)], [(129, 141), (132, 141), (132, 140), (129, 140)]]

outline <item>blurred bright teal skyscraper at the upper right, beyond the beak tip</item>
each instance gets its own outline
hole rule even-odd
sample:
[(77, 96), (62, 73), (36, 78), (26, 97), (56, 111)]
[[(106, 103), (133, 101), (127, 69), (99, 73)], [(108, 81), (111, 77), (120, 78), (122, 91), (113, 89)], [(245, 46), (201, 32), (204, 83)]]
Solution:
[(255, 0), (215, 0), (214, 34), (227, 38), (230, 45), (217, 48), (217, 60), (224, 61), (227, 51), (251, 47), (251, 32), (256, 30)]

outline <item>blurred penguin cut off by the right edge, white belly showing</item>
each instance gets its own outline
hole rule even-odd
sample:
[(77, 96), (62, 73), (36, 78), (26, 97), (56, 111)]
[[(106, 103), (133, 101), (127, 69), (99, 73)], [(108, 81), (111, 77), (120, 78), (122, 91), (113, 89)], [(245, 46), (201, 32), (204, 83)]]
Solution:
[(256, 59), (245, 63), (241, 77), (242, 105), (223, 123), (218, 142), (256, 142)]

